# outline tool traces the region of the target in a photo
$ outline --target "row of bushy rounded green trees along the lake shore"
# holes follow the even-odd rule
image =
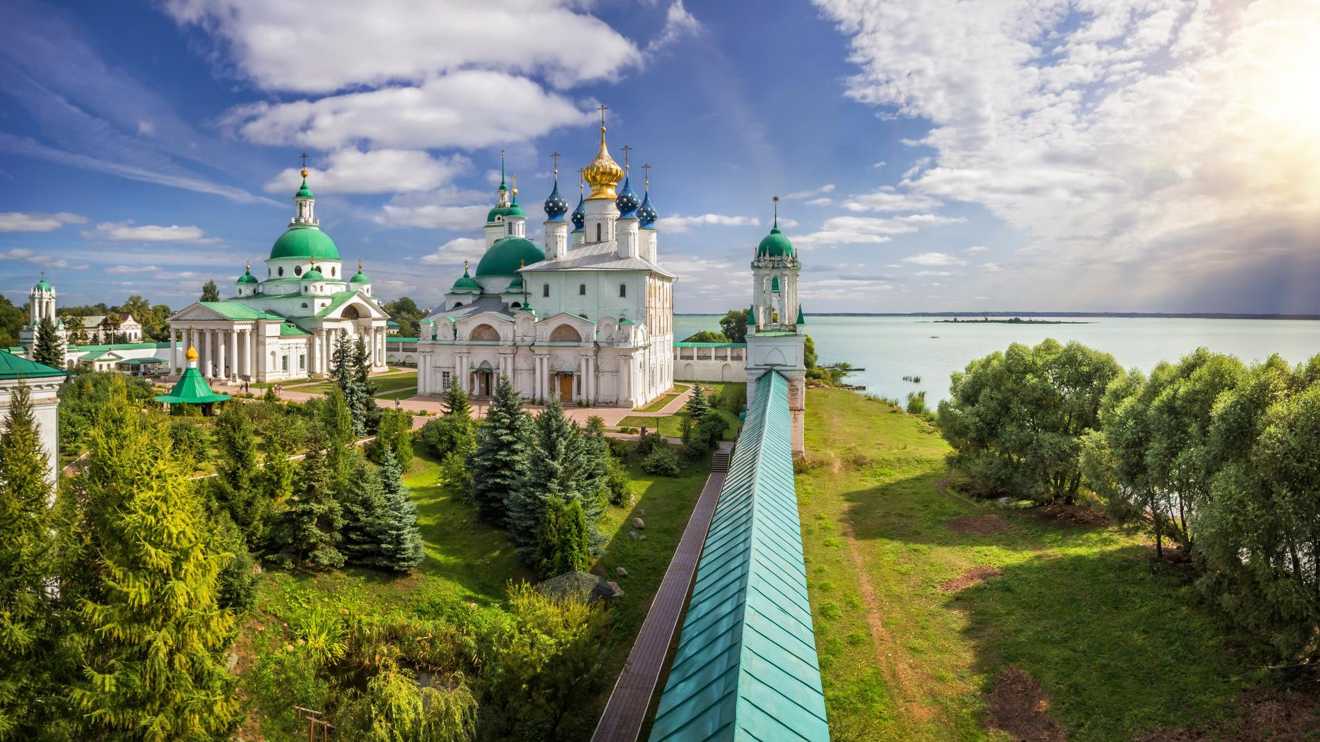
[[[1276,658],[1320,659],[1320,355],[1199,349],[1144,374],[1076,342],[1012,345],[953,374],[936,425],[974,494],[1094,492]]]

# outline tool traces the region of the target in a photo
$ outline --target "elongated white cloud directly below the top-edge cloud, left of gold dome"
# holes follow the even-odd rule
[[[249,141],[272,145],[479,148],[535,139],[560,127],[585,124],[594,115],[527,78],[463,70],[420,86],[319,100],[248,103],[230,110],[222,125]]]

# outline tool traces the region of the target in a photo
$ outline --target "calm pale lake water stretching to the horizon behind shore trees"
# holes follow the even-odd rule
[[[807,333],[821,363],[846,360],[865,368],[847,375],[867,393],[906,399],[924,389],[933,407],[949,396],[949,374],[969,360],[1010,343],[1036,345],[1045,338],[1077,341],[1111,354],[1123,367],[1150,371],[1205,346],[1253,362],[1278,353],[1300,363],[1320,353],[1320,321],[1063,318],[1085,325],[999,325],[935,322],[944,317],[812,317]],[[1041,317],[1044,320],[1044,317]],[[675,317],[675,338],[700,330],[719,331],[719,316]],[[920,383],[903,376],[920,376]]]

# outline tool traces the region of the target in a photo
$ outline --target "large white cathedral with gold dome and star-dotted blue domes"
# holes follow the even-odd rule
[[[669,391],[675,275],[656,256],[649,182],[638,198],[606,149],[603,121],[582,180],[590,193],[569,215],[556,168],[544,247],[527,239],[517,190],[500,180],[475,273],[465,263],[421,323],[418,393],[458,379],[486,396],[502,375],[528,400],[635,407]]]

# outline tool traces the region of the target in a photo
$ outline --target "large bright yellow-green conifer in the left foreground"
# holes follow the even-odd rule
[[[69,689],[78,739],[203,739],[240,713],[224,667],[234,618],[216,603],[223,552],[160,416],[116,384],[88,436],[71,495],[82,557],[63,565],[79,673]]]

